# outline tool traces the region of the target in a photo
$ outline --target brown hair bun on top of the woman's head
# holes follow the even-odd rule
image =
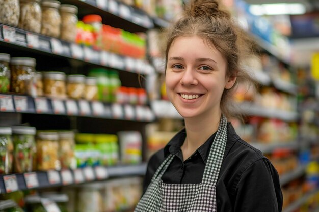
[[[220,8],[219,2],[214,0],[192,0],[185,10],[189,17],[215,17],[230,19],[230,13]]]

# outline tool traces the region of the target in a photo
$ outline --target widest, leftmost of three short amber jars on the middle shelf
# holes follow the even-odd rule
[[[43,93],[48,97],[66,98],[66,75],[64,72],[49,71],[43,73]]]

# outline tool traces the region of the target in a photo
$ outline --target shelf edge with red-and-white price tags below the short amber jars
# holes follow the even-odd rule
[[[147,105],[121,105],[98,101],[49,99],[0,94],[0,112],[67,115],[135,122],[152,122],[155,115]]]

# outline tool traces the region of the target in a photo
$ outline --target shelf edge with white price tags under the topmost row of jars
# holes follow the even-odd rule
[[[107,51],[31,33],[20,28],[0,24],[0,45],[11,45],[41,54],[58,55],[137,74],[150,74],[155,68],[146,60],[121,56]]]

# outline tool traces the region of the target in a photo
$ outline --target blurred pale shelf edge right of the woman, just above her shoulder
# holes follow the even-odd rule
[[[287,122],[294,122],[298,119],[297,112],[263,108],[249,102],[240,103],[238,106],[247,115],[256,115],[267,118],[278,118]]]

